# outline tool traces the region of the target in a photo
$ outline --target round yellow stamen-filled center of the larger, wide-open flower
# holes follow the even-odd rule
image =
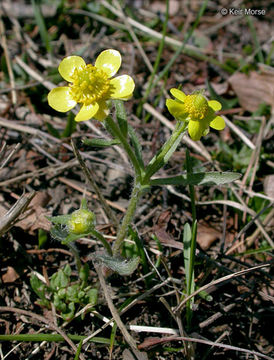
[[[70,93],[73,100],[84,105],[109,97],[111,85],[107,74],[90,64],[74,70]]]

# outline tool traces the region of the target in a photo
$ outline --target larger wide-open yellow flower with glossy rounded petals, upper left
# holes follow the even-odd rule
[[[112,49],[101,52],[94,66],[86,65],[80,56],[64,58],[58,70],[70,84],[51,90],[48,94],[49,105],[57,111],[66,112],[79,103],[81,109],[75,117],[76,121],[91,118],[104,120],[109,114],[106,101],[127,100],[132,96],[135,87],[129,75],[112,79],[121,62],[119,51]]]

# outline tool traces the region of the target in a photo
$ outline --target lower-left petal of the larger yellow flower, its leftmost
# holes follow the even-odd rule
[[[77,104],[70,95],[68,86],[52,89],[48,94],[49,105],[57,111],[66,112],[74,108]]]

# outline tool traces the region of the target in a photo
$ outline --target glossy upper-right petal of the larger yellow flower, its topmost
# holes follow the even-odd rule
[[[107,73],[108,77],[114,76],[121,66],[122,58],[117,50],[102,51],[95,61],[95,67]]]

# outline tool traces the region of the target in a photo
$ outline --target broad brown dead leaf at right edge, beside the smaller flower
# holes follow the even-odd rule
[[[274,72],[263,69],[259,74],[252,71],[249,76],[236,73],[229,83],[239,98],[241,106],[250,112],[256,111],[262,103],[274,103]]]

